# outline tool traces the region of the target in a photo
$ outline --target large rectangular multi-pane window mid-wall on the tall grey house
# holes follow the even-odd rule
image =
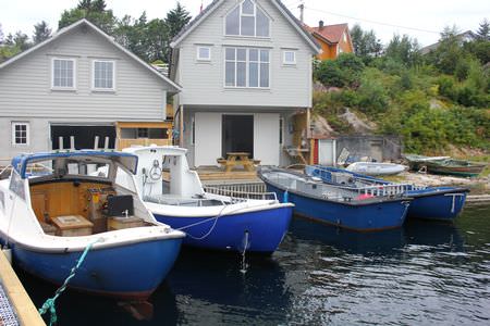
[[[269,50],[225,48],[224,52],[225,87],[269,87]]]

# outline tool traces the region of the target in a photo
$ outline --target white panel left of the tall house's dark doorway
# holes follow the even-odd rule
[[[221,113],[196,112],[196,158],[194,164],[217,165],[221,156]]]

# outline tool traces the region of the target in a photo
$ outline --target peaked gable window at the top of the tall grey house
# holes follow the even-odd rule
[[[269,17],[252,0],[235,7],[225,18],[225,35],[269,37]]]

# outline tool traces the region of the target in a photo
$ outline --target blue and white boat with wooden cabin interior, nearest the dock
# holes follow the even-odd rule
[[[145,301],[166,278],[184,234],[157,222],[136,192],[137,156],[107,151],[23,154],[0,180],[0,238],[14,263],[75,290]],[[106,173],[95,172],[105,167]]]

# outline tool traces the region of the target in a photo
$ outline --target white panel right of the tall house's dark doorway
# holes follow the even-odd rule
[[[279,165],[279,114],[257,113],[254,116],[254,159],[261,165]]]

